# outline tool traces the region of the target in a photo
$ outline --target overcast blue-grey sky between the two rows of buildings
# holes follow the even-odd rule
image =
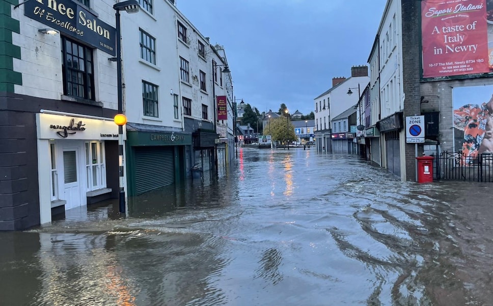
[[[309,114],[332,78],[367,65],[387,0],[176,0],[225,47],[236,100]]]

